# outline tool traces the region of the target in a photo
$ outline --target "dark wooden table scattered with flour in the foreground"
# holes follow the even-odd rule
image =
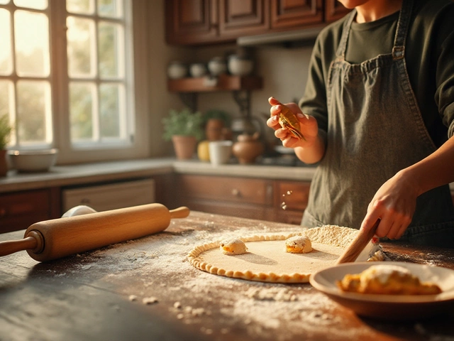
[[[297,225],[192,212],[149,237],[49,263],[0,258],[0,340],[453,340],[454,315],[359,318],[304,284],[207,274],[187,253],[223,237]],[[21,239],[23,232],[0,234]],[[454,269],[454,251],[384,244],[398,261]]]

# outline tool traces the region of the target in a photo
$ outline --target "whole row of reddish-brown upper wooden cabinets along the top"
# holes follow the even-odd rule
[[[323,26],[348,10],[336,0],[163,0],[171,45],[233,43],[241,36]]]

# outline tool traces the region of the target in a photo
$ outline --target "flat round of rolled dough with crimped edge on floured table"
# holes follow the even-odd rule
[[[219,251],[220,242],[211,242],[194,247],[187,259],[194,268],[218,276],[270,283],[307,283],[311,274],[333,266],[357,234],[358,229],[336,225],[303,228],[301,232],[289,234],[260,234],[241,237],[248,247],[245,254],[226,256]],[[296,235],[308,237],[313,251],[286,252],[285,240]]]

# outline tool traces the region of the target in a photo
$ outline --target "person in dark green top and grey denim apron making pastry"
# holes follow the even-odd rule
[[[316,39],[303,97],[305,139],[267,126],[319,163],[301,224],[454,247],[454,2],[340,0],[352,11]],[[304,114],[303,114],[304,113]]]

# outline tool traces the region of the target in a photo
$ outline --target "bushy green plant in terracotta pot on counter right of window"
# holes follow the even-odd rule
[[[194,155],[197,141],[204,137],[203,119],[200,112],[191,112],[188,108],[178,112],[171,109],[168,117],[162,119],[163,138],[172,140],[179,159],[189,159]]]

